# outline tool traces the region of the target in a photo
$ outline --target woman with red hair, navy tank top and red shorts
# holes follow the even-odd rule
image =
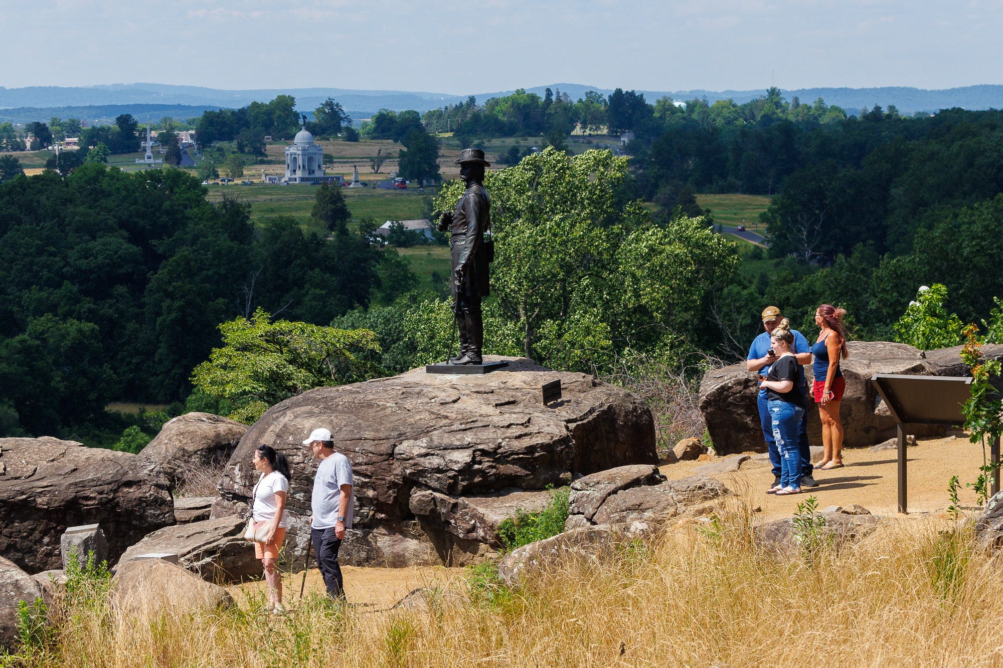
[[[815,344],[813,393],[821,418],[822,457],[816,467],[822,470],[843,465],[843,422],[840,421],[840,401],[847,390],[847,381],[840,360],[849,356],[847,333],[843,328],[845,309],[822,304],[815,310],[815,325],[821,330]]]

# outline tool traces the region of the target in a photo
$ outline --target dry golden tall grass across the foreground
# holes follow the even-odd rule
[[[34,666],[997,666],[999,564],[965,530],[890,521],[839,553],[756,545],[747,506],[516,589],[366,613],[309,598],[286,617],[70,609]],[[293,598],[293,597],[289,597]]]

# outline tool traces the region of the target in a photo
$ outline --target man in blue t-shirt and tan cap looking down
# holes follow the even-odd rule
[[[777,323],[783,318],[780,315],[780,309],[775,306],[767,306],[762,312],[762,327],[766,331],[755,337],[752,341],[752,345],[749,346],[748,358],[745,365],[748,367],[749,371],[755,371],[766,375],[769,373],[769,366],[779,359],[773,354],[773,349],[770,343],[770,334],[773,333],[773,329],[776,328]],[[804,369],[802,366],[804,364],[811,363],[811,346],[808,345],[807,339],[804,335],[798,332],[796,329],[790,330],[790,333],[794,337],[794,345],[791,348],[791,352],[794,353],[794,357],[797,359],[797,381],[795,383],[796,387],[804,391]],[[766,440],[766,449],[769,452],[769,463],[773,466],[773,484],[775,486],[780,482],[780,452],[776,449],[776,441],[773,440],[773,425],[772,420],[769,415],[768,399],[766,398],[766,390],[759,388],[756,394],[756,405],[759,408],[759,426],[762,428],[762,436]],[[801,457],[801,486],[802,487],[814,487],[817,486],[817,482],[811,477],[811,450],[808,448],[808,411],[804,411],[804,416],[801,418],[801,424],[797,431],[797,453]]]

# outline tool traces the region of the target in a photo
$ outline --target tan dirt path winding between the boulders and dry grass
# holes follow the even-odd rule
[[[773,480],[769,462],[762,458],[745,461],[741,470],[735,473],[715,475],[737,493],[744,495],[753,507],[761,512],[757,518],[766,521],[790,517],[809,495],[818,499],[818,507],[847,506],[860,504],[876,515],[897,515],[898,468],[896,451],[872,452],[868,448],[845,450],[843,468],[817,471],[815,479],[819,486],[807,493],[790,496],[774,496],[765,493]],[[718,458],[720,459],[720,458]],[[661,471],[669,479],[692,475],[695,468],[707,461],[680,461],[661,466]],[[945,509],[948,504],[947,484],[952,475],[957,475],[964,485],[975,479],[978,467],[982,465],[982,448],[969,442],[965,437],[948,437],[921,440],[909,448],[909,510],[912,517],[921,513]],[[975,492],[962,486],[960,500],[964,506],[975,504]],[[901,516],[899,516],[901,517]],[[463,578],[463,569],[445,567],[413,567],[405,569],[342,567],[345,578],[345,593],[348,600],[363,609],[374,612],[392,607],[401,598],[418,587],[455,587]],[[287,602],[299,598],[302,573],[284,578]],[[248,596],[259,595],[263,582],[248,583],[231,588],[242,603]],[[306,591],[323,593],[324,582],[316,569],[307,574]]]

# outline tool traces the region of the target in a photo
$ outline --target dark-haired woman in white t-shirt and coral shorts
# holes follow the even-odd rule
[[[289,460],[282,452],[268,445],[259,445],[254,452],[254,467],[261,471],[254,485],[252,518],[255,528],[269,528],[264,543],[255,543],[255,557],[261,560],[268,583],[268,609],[281,614],[282,576],[279,574],[279,548],[286,538],[286,492],[289,490]]]

